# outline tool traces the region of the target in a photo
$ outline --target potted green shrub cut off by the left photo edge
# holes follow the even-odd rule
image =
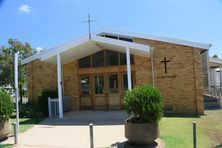
[[[0,139],[10,133],[10,116],[13,112],[13,102],[10,96],[0,89]]]

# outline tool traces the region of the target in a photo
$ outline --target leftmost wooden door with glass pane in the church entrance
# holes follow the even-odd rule
[[[92,109],[92,80],[90,75],[80,76],[80,109]]]

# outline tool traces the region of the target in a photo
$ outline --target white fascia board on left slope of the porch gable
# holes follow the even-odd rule
[[[57,46],[55,48],[51,48],[48,50],[48,52],[46,52],[45,54],[43,54],[41,56],[41,60],[44,61],[50,57],[57,55],[58,53],[62,53],[68,49],[74,48],[74,47],[84,44],[88,41],[89,41],[88,36],[84,36],[82,38],[79,38],[78,40],[74,40],[69,43],[62,44],[62,45]]]

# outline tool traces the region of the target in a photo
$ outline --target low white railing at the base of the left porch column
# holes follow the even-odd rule
[[[62,104],[63,104],[63,112],[67,112],[70,110],[69,103],[70,98],[69,97],[63,97],[62,98]],[[59,115],[59,99],[50,97],[48,98],[48,110],[49,110],[49,118],[55,118]]]

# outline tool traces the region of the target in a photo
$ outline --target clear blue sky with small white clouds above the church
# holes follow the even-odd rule
[[[49,49],[102,28],[212,44],[222,58],[222,0],[0,0],[0,46],[9,38]]]

